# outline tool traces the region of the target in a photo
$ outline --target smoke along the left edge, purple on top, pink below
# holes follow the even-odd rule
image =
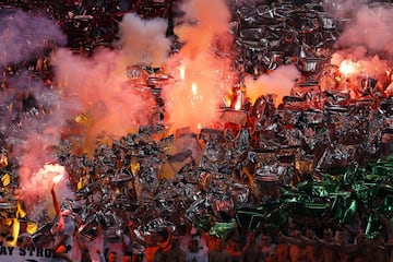
[[[59,96],[27,71],[25,62],[45,55],[46,47],[66,45],[66,39],[59,26],[41,14],[0,10],[0,66],[15,66],[11,76],[2,76],[8,86],[0,97],[4,105],[0,128],[12,148],[10,157],[21,165],[16,193],[32,219],[39,219],[51,205],[52,177],[39,170],[55,159],[51,147],[60,141],[61,121],[43,114],[56,109]],[[70,193],[63,186],[60,199]]]

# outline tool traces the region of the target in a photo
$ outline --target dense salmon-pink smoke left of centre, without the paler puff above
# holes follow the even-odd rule
[[[88,112],[86,141],[93,143],[100,133],[123,135],[151,123],[152,94],[128,83],[120,52],[102,50],[85,59],[60,49],[56,56],[56,78],[63,97],[59,110],[71,118]]]

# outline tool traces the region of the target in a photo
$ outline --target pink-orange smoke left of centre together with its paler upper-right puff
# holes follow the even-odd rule
[[[93,147],[98,134],[118,138],[153,121],[156,104],[151,90],[144,80],[131,82],[127,69],[164,64],[170,49],[167,23],[126,14],[119,27],[119,49],[96,49],[90,58],[59,49],[55,56],[62,97],[59,110],[64,116],[82,116],[76,120],[87,129],[84,148]]]

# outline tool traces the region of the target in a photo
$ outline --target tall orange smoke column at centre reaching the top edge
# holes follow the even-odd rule
[[[184,43],[167,68],[177,79],[163,91],[170,131],[188,127],[196,132],[212,127],[233,82],[229,69],[231,36],[225,1],[193,0],[181,5],[186,15],[175,33]]]

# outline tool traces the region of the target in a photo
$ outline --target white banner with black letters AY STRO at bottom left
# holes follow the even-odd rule
[[[1,262],[50,262],[53,250],[44,248],[1,247]]]

